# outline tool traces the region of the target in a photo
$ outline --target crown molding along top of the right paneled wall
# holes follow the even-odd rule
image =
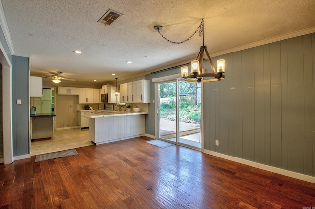
[[[298,37],[298,36],[302,36],[302,35],[306,35],[306,34],[310,34],[310,33],[314,33],[314,32],[315,32],[315,27],[310,27],[310,28],[307,28],[307,29],[295,31],[295,32],[292,32],[292,33],[276,36],[276,37],[273,37],[273,38],[269,38],[269,39],[265,39],[265,40],[261,40],[261,41],[257,41],[257,42],[253,42],[253,43],[250,43],[250,44],[246,44],[246,45],[243,45],[243,46],[231,48],[231,49],[228,49],[228,50],[223,50],[221,52],[215,52],[215,53],[210,54],[210,56],[211,57],[216,57],[216,56],[220,56],[220,55],[223,55],[223,54],[228,54],[228,53],[232,53],[232,52],[238,52],[238,51],[241,51],[241,50],[246,50],[246,49],[250,49],[250,48],[253,48],[253,47],[258,47],[258,46],[261,46],[261,45],[264,45],[264,44],[270,44],[270,43],[273,43],[273,42],[276,42],[276,41],[282,41],[282,40],[285,40],[285,39],[294,38],[294,37]]]

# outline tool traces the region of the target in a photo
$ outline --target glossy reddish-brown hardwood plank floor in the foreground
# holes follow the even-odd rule
[[[0,165],[1,208],[302,208],[315,184],[138,137]]]

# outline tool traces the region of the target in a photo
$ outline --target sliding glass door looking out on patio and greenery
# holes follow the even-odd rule
[[[200,84],[171,81],[158,84],[159,138],[201,148]]]

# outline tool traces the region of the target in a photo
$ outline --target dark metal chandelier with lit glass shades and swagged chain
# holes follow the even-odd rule
[[[217,70],[216,70],[212,61],[211,61],[209,52],[207,50],[207,46],[204,45],[203,19],[201,20],[201,23],[200,23],[199,27],[195,30],[195,32],[188,39],[186,39],[184,41],[180,41],[180,42],[170,41],[164,35],[162,35],[160,32],[160,30],[163,29],[162,26],[154,26],[154,29],[158,30],[158,33],[165,40],[167,40],[168,42],[173,43],[173,44],[181,44],[183,42],[189,41],[192,38],[192,36],[194,36],[194,34],[197,33],[199,30],[199,36],[202,36],[202,46],[200,47],[200,51],[198,53],[196,60],[193,60],[191,62],[190,74],[188,72],[187,66],[183,66],[181,68],[181,76],[185,81],[188,81],[188,82],[213,82],[213,81],[220,81],[220,80],[223,80],[225,78],[225,75],[224,75],[224,73],[225,73],[225,60],[220,59],[217,61]],[[206,52],[206,55],[208,57],[212,73],[206,73],[205,68],[203,67],[204,52]]]

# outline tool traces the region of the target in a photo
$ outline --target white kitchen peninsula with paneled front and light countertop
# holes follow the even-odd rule
[[[145,133],[145,114],[148,112],[100,111],[89,118],[89,137],[95,144],[104,144]]]

